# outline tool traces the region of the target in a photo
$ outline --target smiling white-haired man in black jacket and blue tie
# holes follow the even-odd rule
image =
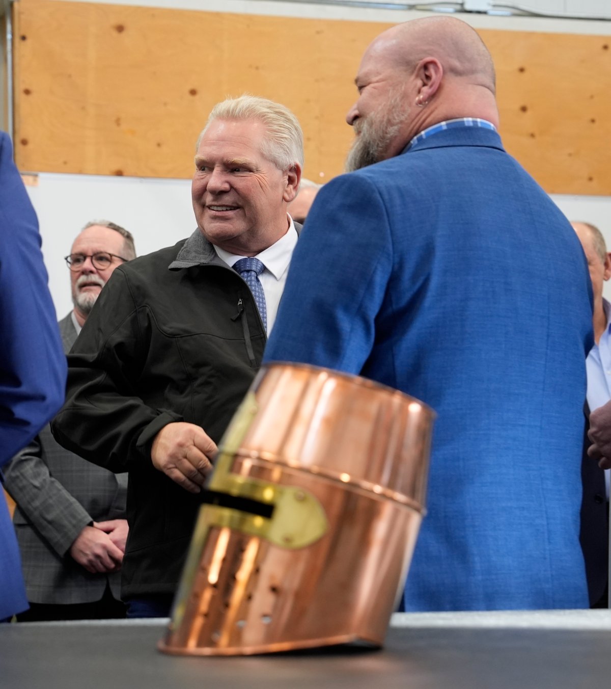
[[[56,438],[128,471],[128,617],[165,617],[211,459],[263,357],[297,230],[303,134],[283,105],[218,103],[197,141],[197,229],[116,269],[68,357]]]

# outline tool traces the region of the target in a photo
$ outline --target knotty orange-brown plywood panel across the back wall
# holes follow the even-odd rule
[[[23,170],[191,176],[208,112],[243,92],[288,105],[305,175],[339,174],[365,46],[388,25],[49,0],[15,13]],[[608,37],[481,30],[509,152],[557,194],[611,194]]]

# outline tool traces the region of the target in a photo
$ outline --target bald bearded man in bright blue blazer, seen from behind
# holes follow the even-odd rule
[[[469,25],[394,26],[356,87],[353,172],[314,201],[265,360],[358,373],[438,412],[402,609],[586,608],[579,240],[504,151]]]

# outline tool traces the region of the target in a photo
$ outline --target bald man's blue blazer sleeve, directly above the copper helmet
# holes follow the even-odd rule
[[[299,236],[264,362],[360,373],[391,274],[392,240],[378,190],[361,177],[334,178]]]

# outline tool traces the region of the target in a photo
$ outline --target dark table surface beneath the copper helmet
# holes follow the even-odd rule
[[[0,625],[2,689],[601,689],[611,610],[393,615],[385,647],[177,657],[167,620]]]

